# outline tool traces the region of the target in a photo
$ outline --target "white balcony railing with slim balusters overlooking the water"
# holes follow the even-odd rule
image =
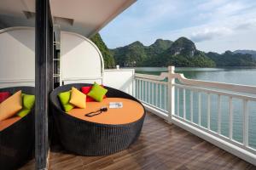
[[[135,74],[137,99],[166,121],[256,165],[256,87],[187,79],[174,70]]]

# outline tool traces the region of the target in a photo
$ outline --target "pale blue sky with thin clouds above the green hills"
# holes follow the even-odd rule
[[[256,0],[137,0],[102,31],[108,48],[188,37],[199,50],[256,50]]]

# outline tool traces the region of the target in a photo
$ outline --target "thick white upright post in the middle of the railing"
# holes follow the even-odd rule
[[[175,111],[175,89],[174,89],[174,82],[175,78],[172,77],[172,74],[174,74],[175,67],[174,66],[168,66],[168,118],[169,122],[172,122],[172,115],[174,115]]]

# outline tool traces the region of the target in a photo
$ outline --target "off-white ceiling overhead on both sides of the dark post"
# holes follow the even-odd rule
[[[50,0],[56,25],[85,37],[94,35],[136,0]],[[1,0],[0,26],[33,26],[24,11],[35,12],[35,0]]]

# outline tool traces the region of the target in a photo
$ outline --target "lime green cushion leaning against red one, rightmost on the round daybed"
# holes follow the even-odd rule
[[[104,95],[107,94],[107,92],[108,90],[106,88],[102,88],[102,86],[94,82],[90,92],[87,95],[96,101],[102,101]]]

